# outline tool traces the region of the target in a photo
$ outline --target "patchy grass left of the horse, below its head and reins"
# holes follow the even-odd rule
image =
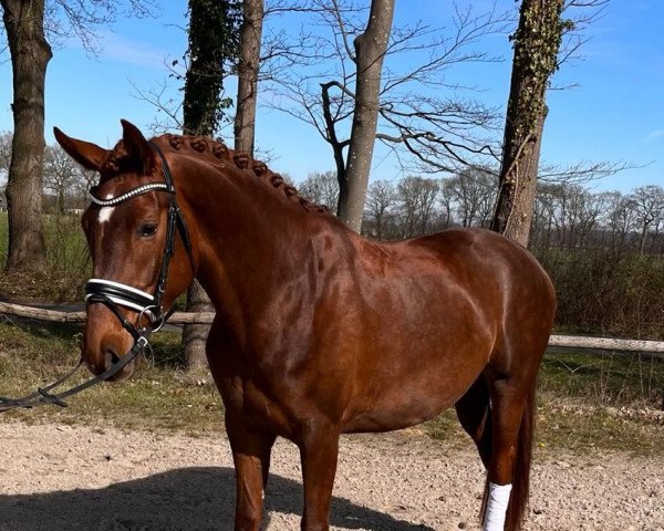
[[[81,331],[73,326],[0,324],[0,395],[34,391],[73,367],[79,357]],[[2,419],[28,423],[58,421],[113,424],[125,429],[188,434],[222,429],[222,408],[210,378],[191,379],[183,371],[179,334],[160,332],[153,353],[143,360],[132,379],[100,384],[68,402],[70,407],[38,407],[2,414]],[[90,377],[82,369],[74,385]]]

